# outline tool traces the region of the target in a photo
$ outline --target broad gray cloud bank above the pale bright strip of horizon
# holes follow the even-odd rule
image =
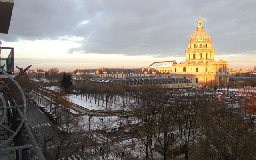
[[[70,53],[184,56],[200,7],[216,54],[240,54],[255,50],[254,6],[254,0],[15,1],[9,34],[0,36],[6,41],[84,37]]]

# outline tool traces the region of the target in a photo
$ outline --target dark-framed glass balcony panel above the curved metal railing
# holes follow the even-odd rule
[[[3,65],[8,74],[14,74],[14,48],[0,47],[0,66]]]

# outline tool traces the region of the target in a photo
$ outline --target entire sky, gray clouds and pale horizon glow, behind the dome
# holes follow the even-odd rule
[[[3,47],[14,65],[60,70],[142,68],[185,61],[199,10],[230,68],[256,66],[255,0],[15,0]]]

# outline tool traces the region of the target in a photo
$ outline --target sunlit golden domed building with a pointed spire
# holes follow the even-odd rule
[[[214,60],[214,46],[212,46],[210,35],[204,31],[201,12],[199,12],[196,31],[190,36],[185,52],[185,62],[177,64],[174,61],[175,63],[171,66],[164,68],[164,72],[160,72],[163,70],[160,65],[162,62],[156,63],[159,65],[154,63],[150,68],[154,68],[160,74],[171,74],[173,78],[186,78],[192,82],[193,86],[198,86],[201,82],[201,84],[212,82],[224,85],[228,83],[228,64],[224,60]]]

